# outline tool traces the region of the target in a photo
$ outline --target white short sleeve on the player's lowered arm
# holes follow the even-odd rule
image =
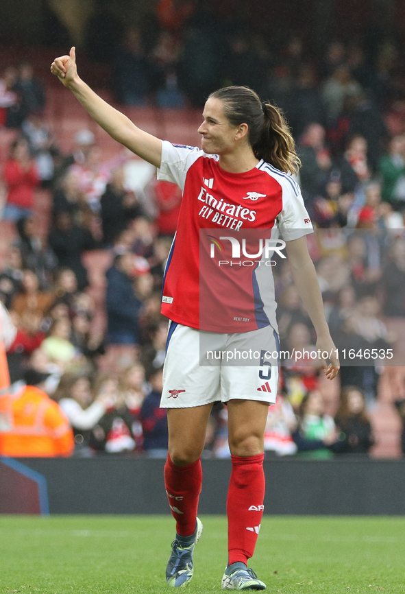
[[[278,228],[284,241],[293,241],[313,233],[310,216],[297,182],[290,176],[279,180],[282,185],[282,211],[278,215]]]

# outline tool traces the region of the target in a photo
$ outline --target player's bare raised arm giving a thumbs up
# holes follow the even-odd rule
[[[101,99],[79,78],[74,47],[71,48],[69,56],[61,56],[52,62],[51,73],[72,91],[84,109],[114,140],[155,167],[160,167],[162,141],[137,128],[129,118]]]

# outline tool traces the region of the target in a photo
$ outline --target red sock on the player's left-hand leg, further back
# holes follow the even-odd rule
[[[164,464],[164,487],[171,513],[176,521],[176,532],[180,536],[191,536],[195,532],[201,484],[200,459],[186,466],[175,466],[170,455],[167,455]]]

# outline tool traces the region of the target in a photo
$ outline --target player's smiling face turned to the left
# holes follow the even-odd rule
[[[220,99],[210,97],[204,106],[203,123],[198,129],[202,136],[201,147],[208,154],[234,152],[238,142],[247,140],[247,125],[230,126]]]

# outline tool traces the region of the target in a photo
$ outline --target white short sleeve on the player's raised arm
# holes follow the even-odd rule
[[[173,145],[169,141],[162,141],[162,160],[158,169],[158,180],[177,184],[183,191],[188,169],[202,156],[204,151],[197,147]]]

